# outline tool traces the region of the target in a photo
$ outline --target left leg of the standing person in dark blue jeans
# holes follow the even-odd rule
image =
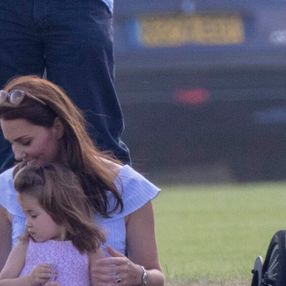
[[[43,73],[43,50],[33,9],[31,0],[0,1],[0,89],[16,75]],[[0,173],[13,163],[11,146],[0,131]]]

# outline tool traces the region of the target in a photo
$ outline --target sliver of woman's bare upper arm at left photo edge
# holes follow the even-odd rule
[[[0,206],[0,271],[3,269],[11,251],[11,221],[8,212]]]

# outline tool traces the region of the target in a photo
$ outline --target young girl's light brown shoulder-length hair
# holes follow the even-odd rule
[[[102,230],[95,225],[93,208],[70,169],[56,164],[25,166],[15,174],[14,187],[20,194],[35,197],[54,222],[67,229],[67,239],[80,252],[96,251],[106,242]],[[28,238],[26,230],[21,239]]]

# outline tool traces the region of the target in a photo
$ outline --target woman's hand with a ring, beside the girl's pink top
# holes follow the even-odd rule
[[[120,283],[120,286],[142,284],[143,272],[140,265],[133,263],[109,245],[107,252],[111,257],[98,259],[91,269],[91,275],[97,281],[97,286],[114,286],[114,283]]]

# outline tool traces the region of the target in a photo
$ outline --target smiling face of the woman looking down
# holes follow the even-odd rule
[[[32,166],[60,161],[62,133],[57,124],[46,128],[26,119],[0,119],[0,123],[5,139],[12,144],[17,161],[23,160]]]

